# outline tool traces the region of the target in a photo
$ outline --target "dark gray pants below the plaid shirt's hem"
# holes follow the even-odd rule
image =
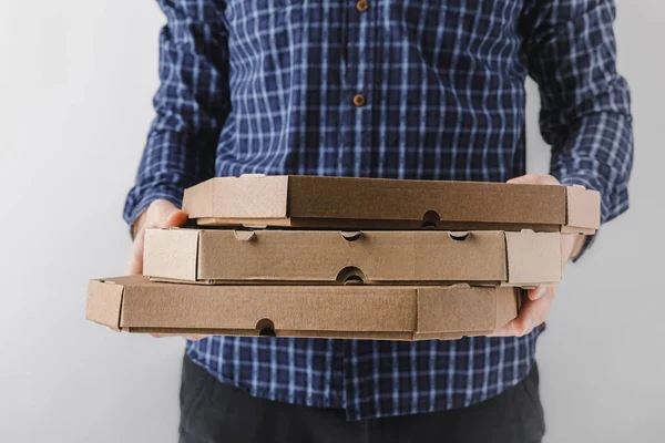
[[[219,383],[185,357],[181,443],[538,443],[545,425],[538,369],[501,395],[467,409],[346,421],[335,409],[256,399]]]

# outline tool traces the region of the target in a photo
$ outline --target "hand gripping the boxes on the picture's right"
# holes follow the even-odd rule
[[[523,175],[513,178],[508,183],[530,184],[530,185],[559,185],[559,181],[551,175]],[[562,235],[561,236],[561,256],[564,265],[572,258],[575,258],[582,250],[584,236],[582,235]],[[516,319],[512,320],[503,328],[497,330],[492,337],[523,337],[540,324],[542,324],[550,313],[557,287],[541,286],[530,289],[526,300],[522,303],[522,309]]]

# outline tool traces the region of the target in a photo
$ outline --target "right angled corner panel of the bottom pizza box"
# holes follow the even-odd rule
[[[473,332],[494,328],[495,288],[432,287],[418,289],[418,333]]]

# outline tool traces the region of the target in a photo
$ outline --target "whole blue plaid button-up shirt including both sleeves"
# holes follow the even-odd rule
[[[526,75],[540,85],[552,174],[600,190],[603,222],[627,208],[630,95],[610,0],[160,3],[162,84],[129,223],[213,175],[507,181],[525,168]],[[188,342],[187,354],[252,395],[342,408],[354,420],[497,395],[530,371],[539,332],[212,337]]]

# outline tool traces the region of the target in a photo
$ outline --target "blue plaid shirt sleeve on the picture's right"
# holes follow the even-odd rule
[[[602,222],[628,208],[631,96],[616,72],[612,0],[533,0],[523,17],[531,76],[551,173],[601,193]]]

